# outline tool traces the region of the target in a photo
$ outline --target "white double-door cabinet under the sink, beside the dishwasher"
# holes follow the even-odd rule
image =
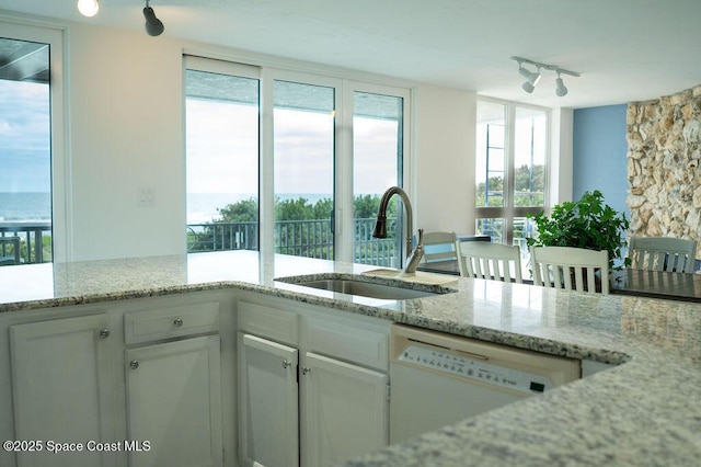
[[[330,466],[386,446],[389,324],[260,300],[238,305],[241,463]]]

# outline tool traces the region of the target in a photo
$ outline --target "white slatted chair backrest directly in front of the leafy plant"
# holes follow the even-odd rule
[[[609,252],[572,247],[531,247],[533,282],[545,287],[609,293]],[[598,281],[597,281],[598,272]],[[600,291],[597,285],[600,283]]]

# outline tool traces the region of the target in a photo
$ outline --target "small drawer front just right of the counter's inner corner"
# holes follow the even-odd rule
[[[240,330],[288,345],[299,342],[297,314],[243,300],[238,310]]]

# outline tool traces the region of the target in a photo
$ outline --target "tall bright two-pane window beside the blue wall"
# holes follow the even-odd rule
[[[478,101],[475,231],[519,246],[524,264],[532,231],[527,216],[545,206],[548,126],[545,110]]]

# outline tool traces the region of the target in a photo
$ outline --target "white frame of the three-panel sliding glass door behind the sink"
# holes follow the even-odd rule
[[[308,71],[281,69],[266,65],[253,65],[227,57],[209,57],[195,52],[183,53],[183,76],[186,69],[235,75],[255,78],[260,82],[260,122],[258,122],[258,251],[275,252],[275,172],[274,172],[274,83],[291,81],[302,84],[321,86],[334,89],[334,259],[353,261],[354,241],[354,193],[353,193],[353,95],[355,91],[386,94],[403,100],[402,115],[402,157],[400,186],[411,192],[411,98],[410,88],[387,86],[334,77],[315,75]],[[249,75],[245,75],[245,70]],[[184,82],[184,78],[183,78]],[[183,90],[183,105],[185,102]],[[186,118],[185,118],[186,119]],[[185,134],[185,132],[183,132]],[[186,155],[185,155],[186,157]],[[187,176],[187,174],[185,174]],[[409,185],[409,186],[407,186]],[[389,186],[388,186],[389,189]],[[401,236],[404,237],[403,234]],[[402,242],[403,244],[403,242]],[[402,252],[402,260],[406,252]]]

